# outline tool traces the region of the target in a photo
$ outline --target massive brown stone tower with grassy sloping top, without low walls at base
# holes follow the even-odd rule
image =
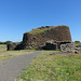
[[[23,37],[23,48],[38,49],[40,45],[43,45],[48,40],[71,42],[69,27],[65,25],[45,26],[33,29],[33,31],[26,32]],[[60,42],[58,42],[59,46]]]

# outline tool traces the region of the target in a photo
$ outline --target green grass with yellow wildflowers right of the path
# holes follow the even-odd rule
[[[17,81],[81,81],[81,54],[43,51]]]

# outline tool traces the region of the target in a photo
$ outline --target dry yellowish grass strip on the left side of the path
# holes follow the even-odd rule
[[[28,54],[33,52],[35,50],[21,50],[21,51],[6,51],[5,44],[0,44],[0,62],[8,59],[10,57]]]

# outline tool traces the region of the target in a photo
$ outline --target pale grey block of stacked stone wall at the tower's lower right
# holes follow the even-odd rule
[[[60,51],[65,53],[72,53],[75,52],[75,44],[73,43],[62,44]]]

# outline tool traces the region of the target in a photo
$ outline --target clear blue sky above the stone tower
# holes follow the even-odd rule
[[[81,0],[0,0],[0,41],[18,42],[26,31],[57,25],[81,41]]]

